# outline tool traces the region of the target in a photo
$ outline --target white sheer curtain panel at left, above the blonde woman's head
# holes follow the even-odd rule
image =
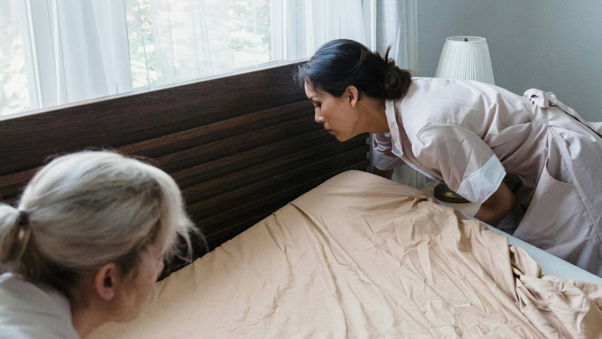
[[[11,0],[31,109],[132,89],[124,0]]]

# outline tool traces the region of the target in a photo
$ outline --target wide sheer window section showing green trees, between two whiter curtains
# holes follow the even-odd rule
[[[151,0],[158,83],[272,61],[272,13],[270,0]]]

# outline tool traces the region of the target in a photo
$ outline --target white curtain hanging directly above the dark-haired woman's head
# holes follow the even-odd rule
[[[324,42],[352,39],[402,68],[417,67],[417,0],[284,0],[287,59],[311,57]]]

